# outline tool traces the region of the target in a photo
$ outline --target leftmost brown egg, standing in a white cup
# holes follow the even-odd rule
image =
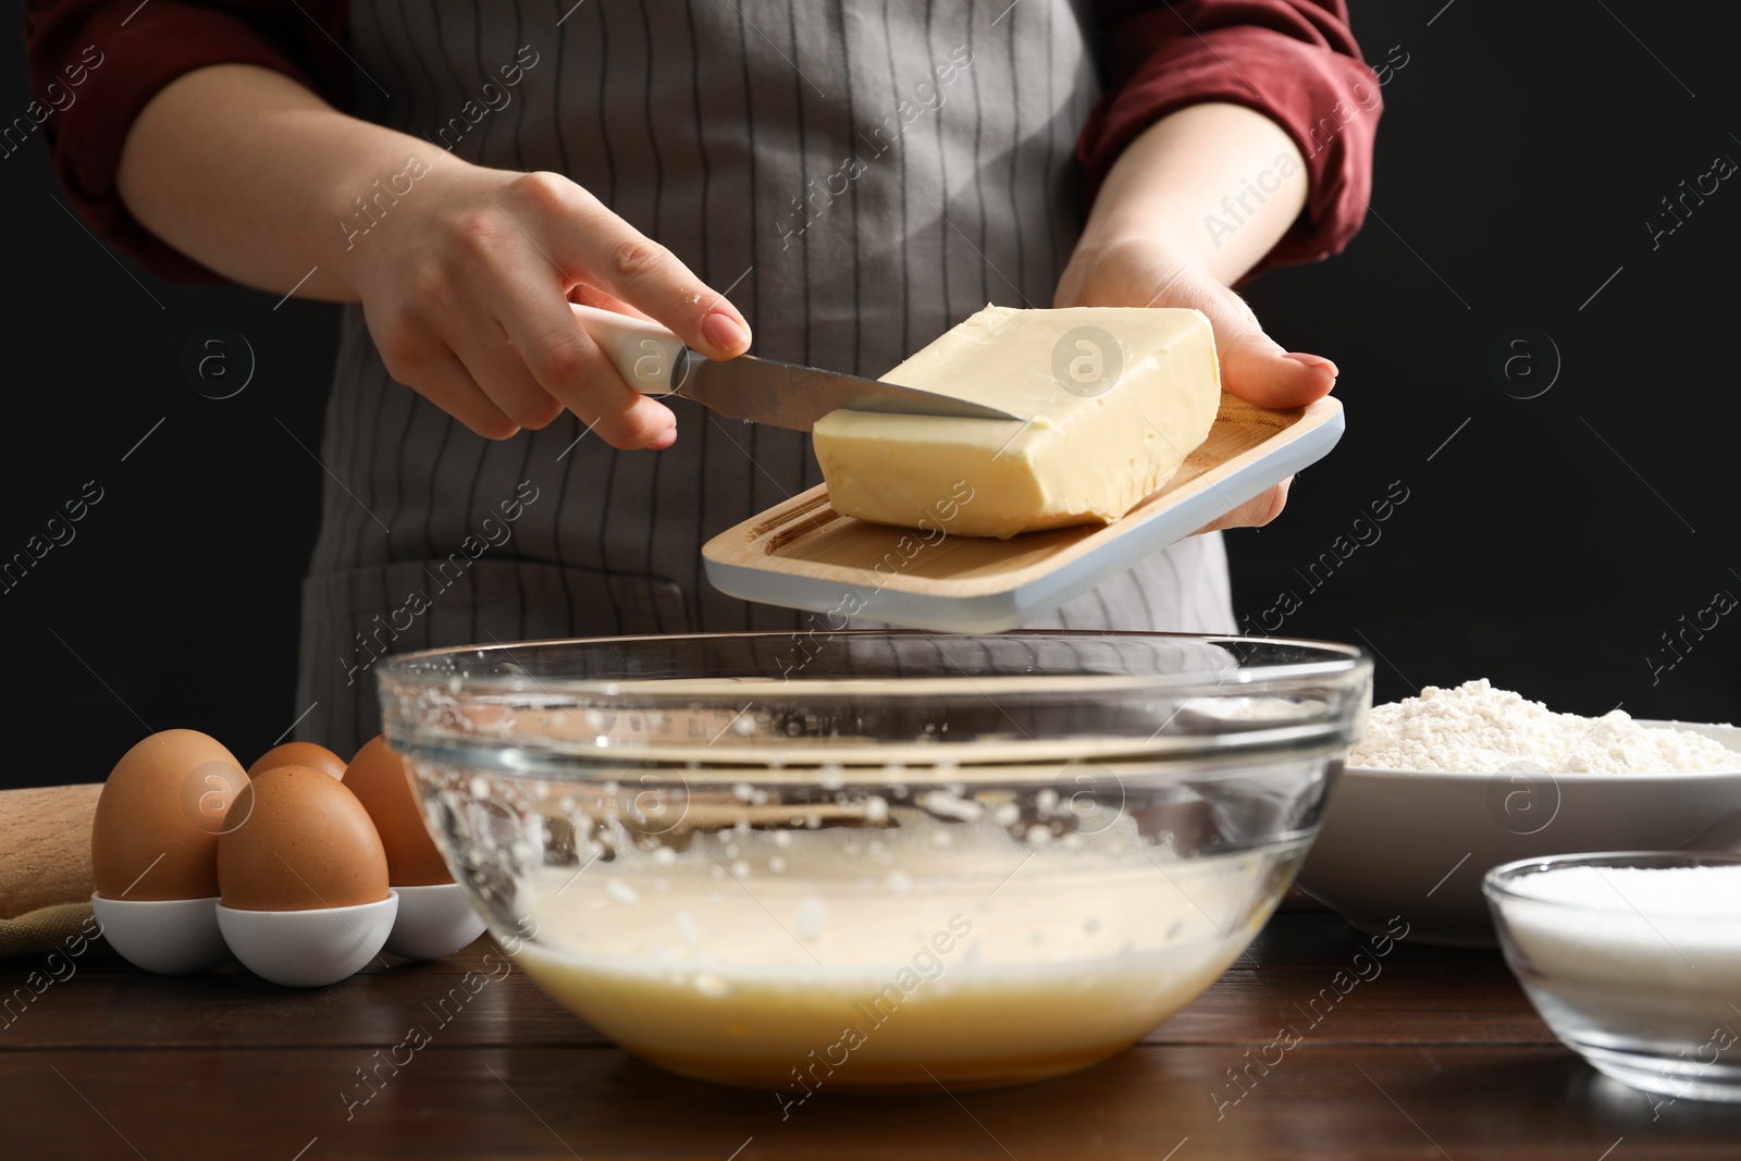
[[[127,750],[103,783],[91,823],[97,895],[218,895],[218,834],[244,787],[235,755],[197,729],[165,729]]]

